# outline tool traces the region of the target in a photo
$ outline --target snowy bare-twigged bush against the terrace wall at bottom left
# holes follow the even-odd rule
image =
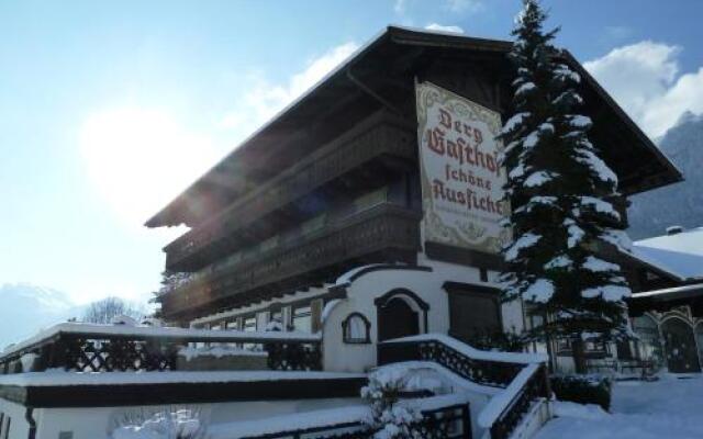
[[[202,439],[205,434],[200,413],[186,408],[130,414],[116,424],[112,439]]]

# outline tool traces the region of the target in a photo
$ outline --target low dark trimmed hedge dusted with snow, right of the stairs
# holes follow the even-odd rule
[[[551,391],[559,401],[598,404],[604,410],[611,406],[611,381],[601,375],[554,375]]]

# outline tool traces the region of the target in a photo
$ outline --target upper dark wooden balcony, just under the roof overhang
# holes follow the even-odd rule
[[[199,270],[235,248],[265,238],[270,229],[304,221],[291,204],[311,192],[328,190],[334,184],[353,192],[391,175],[402,164],[414,162],[412,128],[389,117],[384,113],[369,117],[169,244],[164,249],[166,268]]]

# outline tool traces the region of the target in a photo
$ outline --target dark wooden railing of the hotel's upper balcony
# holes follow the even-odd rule
[[[371,117],[356,135],[347,133],[305,160],[253,190],[221,214],[169,244],[167,268],[190,266],[199,255],[233,240],[233,233],[282,207],[367,161],[382,156],[404,160],[415,157],[412,131]],[[370,127],[368,125],[371,125]],[[231,249],[230,249],[231,251]]]

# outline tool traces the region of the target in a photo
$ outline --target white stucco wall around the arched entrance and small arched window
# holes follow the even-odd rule
[[[324,370],[365,372],[376,365],[378,316],[375,300],[391,290],[410,290],[429,305],[427,328],[423,327],[423,317],[420,313],[421,333],[447,334],[449,301],[447,292],[442,288],[445,282],[495,286],[492,282],[495,273],[490,273],[489,281],[482,282],[478,268],[427,260],[422,255],[419,264],[431,267],[432,271],[383,269],[362,274],[347,285],[347,297],[332,308],[323,324]],[[370,344],[343,342],[342,322],[353,312],[364,314],[371,323]],[[502,314],[505,330],[513,328],[522,330],[523,311],[520,303],[504,305]]]

